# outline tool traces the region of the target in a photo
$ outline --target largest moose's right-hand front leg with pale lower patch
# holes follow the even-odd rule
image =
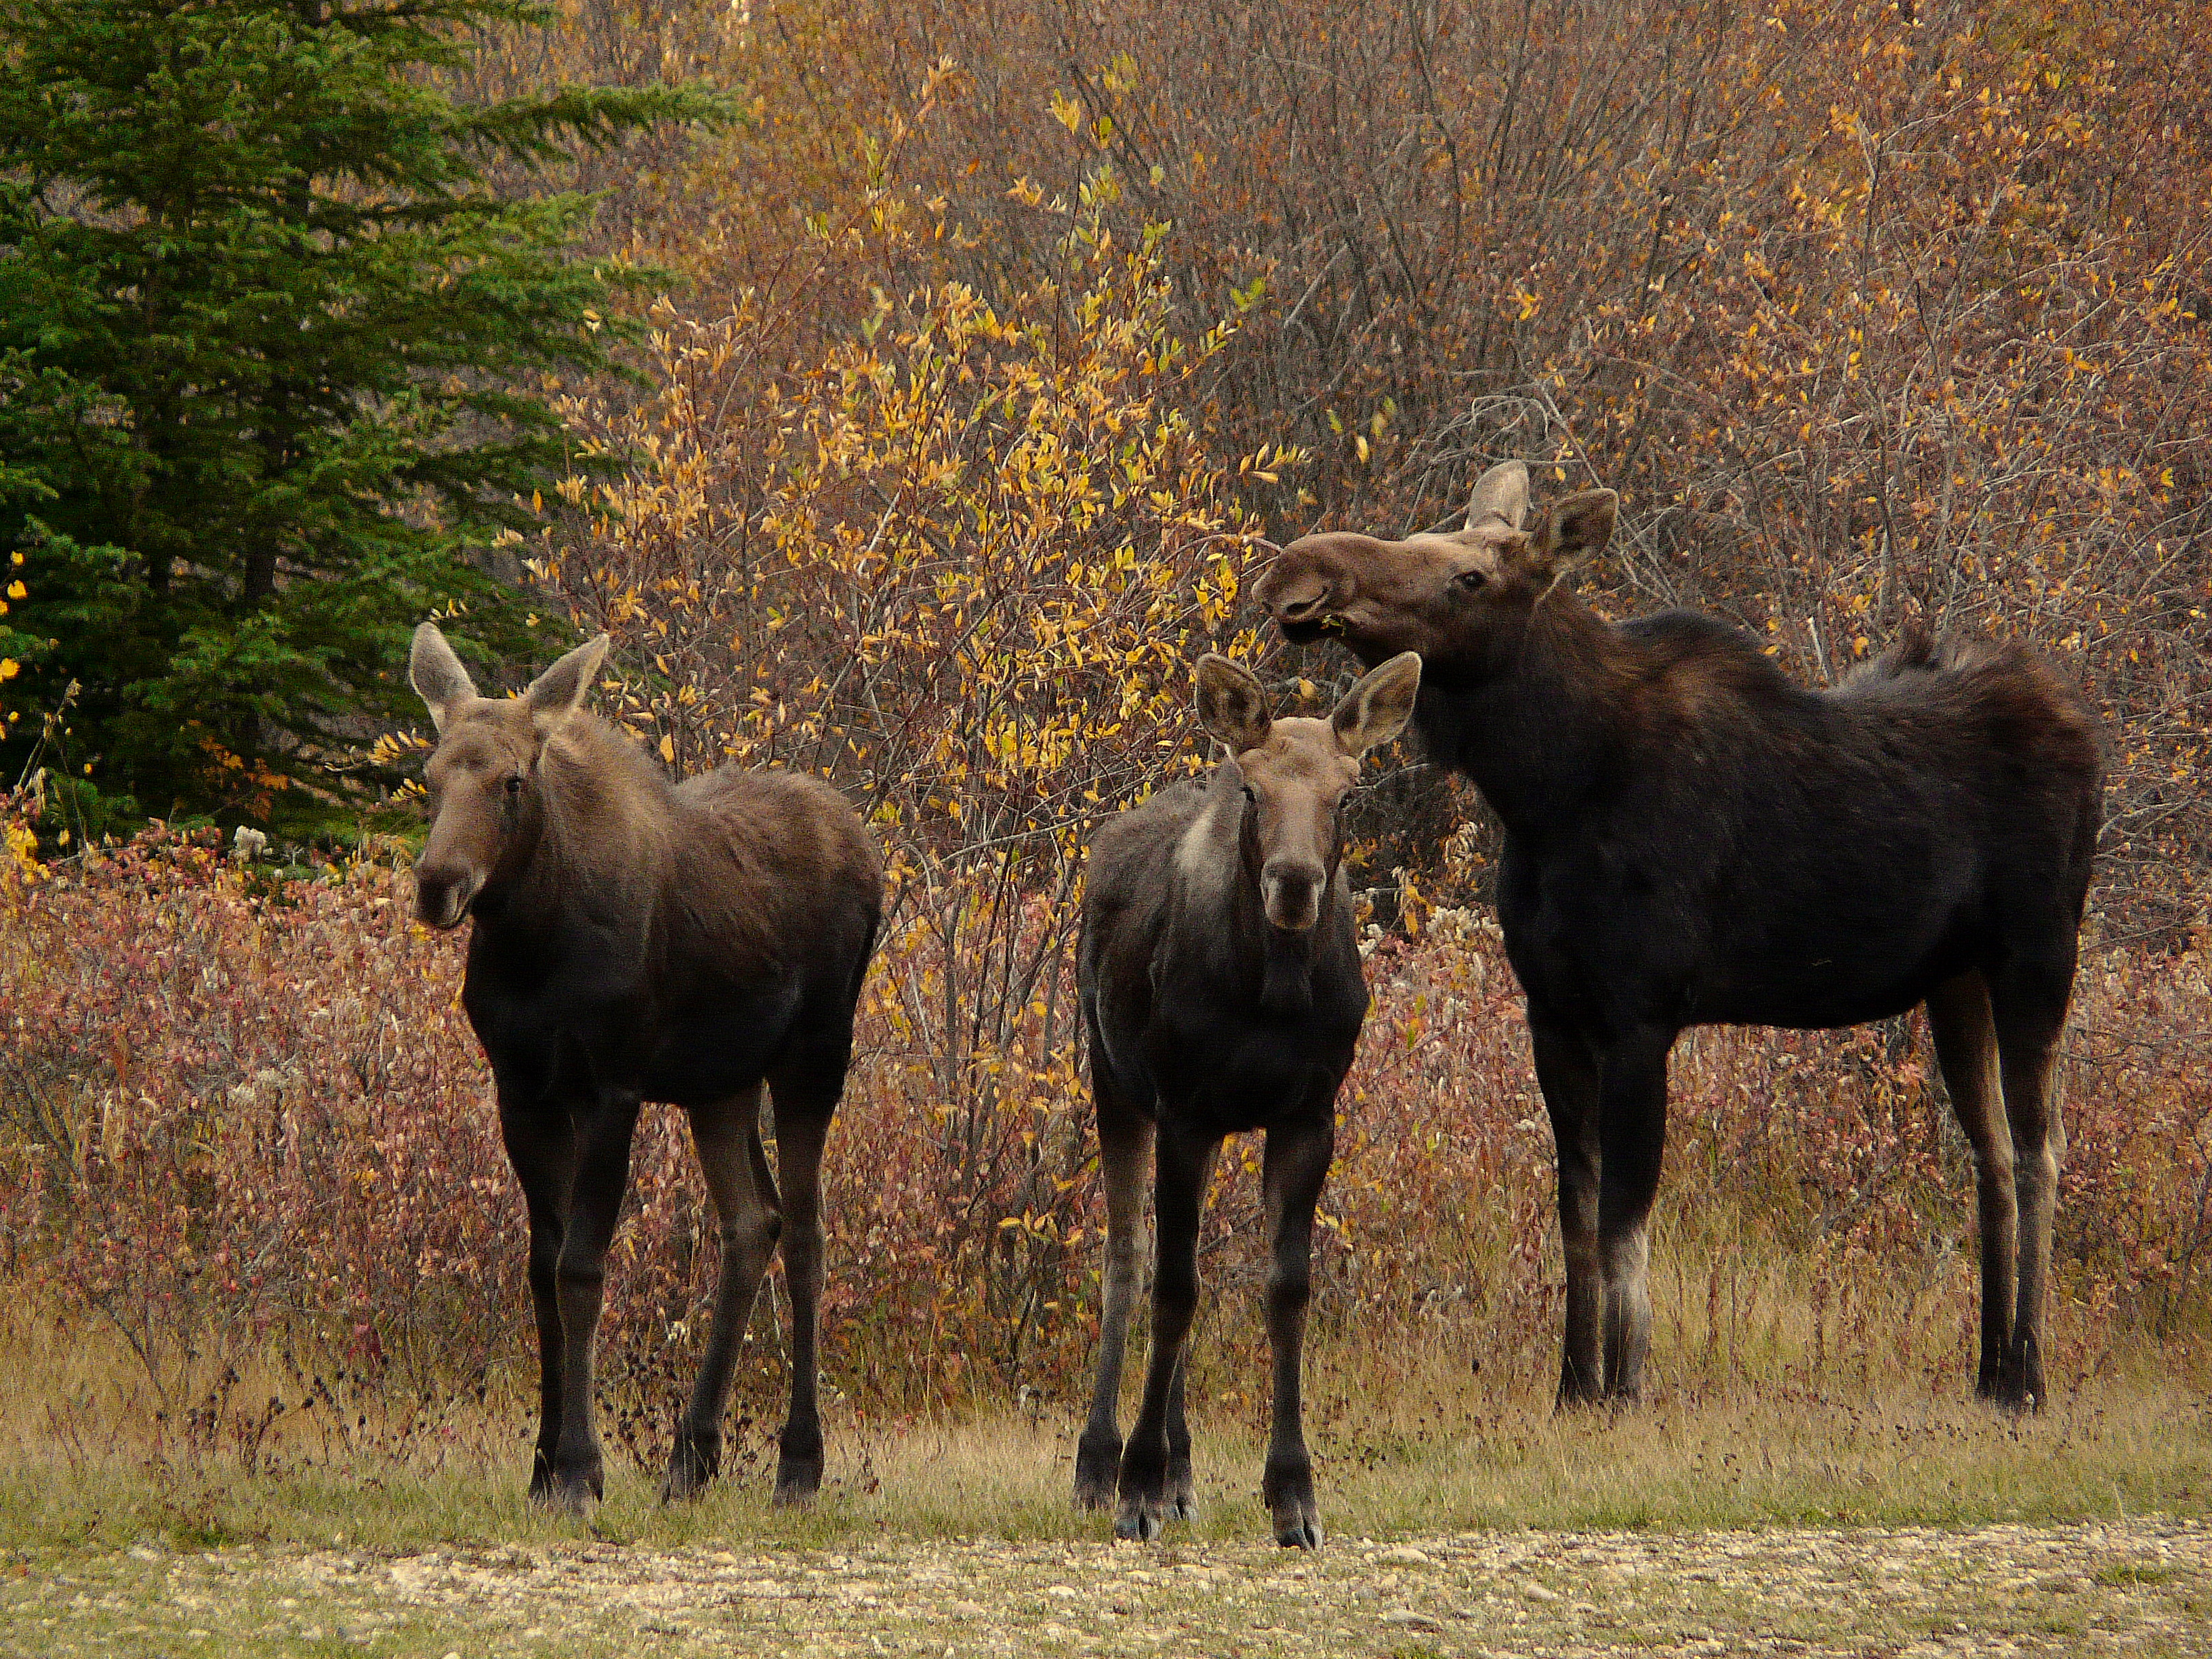
[[[1599,1079],[1597,1267],[1606,1283],[1606,1396],[1644,1396],[1652,1296],[1650,1214],[1666,1159],[1666,1055],[1672,1031],[1615,1042]]]

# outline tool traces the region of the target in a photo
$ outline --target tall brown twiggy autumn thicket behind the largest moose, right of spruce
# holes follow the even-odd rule
[[[648,0],[566,49],[763,88],[624,190],[686,321],[743,334],[714,414],[945,281],[1079,338],[1071,230],[1148,246],[1179,336],[1234,325],[1177,398],[1217,465],[1265,453],[1237,484],[1276,538],[1438,522],[1524,456],[1624,491],[1619,613],[1723,611],[1814,681],[1911,622],[2053,650],[2112,719],[2126,931],[2192,918],[2212,852],[2208,40],[2201,4],[2075,0]],[[929,232],[878,234],[887,206]],[[719,522],[772,511],[754,453]],[[1429,805],[1391,858],[1471,807]]]

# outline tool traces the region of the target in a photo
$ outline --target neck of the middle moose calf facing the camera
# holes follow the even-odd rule
[[[1314,1006],[1314,942],[1334,918],[1336,872],[1314,927],[1303,933],[1276,927],[1259,891],[1254,834],[1243,772],[1223,761],[1175,849],[1168,940],[1179,956],[1201,962],[1210,982],[1250,993],[1261,1013],[1298,1018]]]

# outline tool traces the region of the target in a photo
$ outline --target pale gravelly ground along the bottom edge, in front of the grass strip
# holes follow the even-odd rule
[[[2212,1526],[0,1559],[20,1655],[2212,1655]]]

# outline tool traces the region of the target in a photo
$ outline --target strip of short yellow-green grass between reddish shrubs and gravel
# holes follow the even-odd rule
[[[2035,1418],[1971,1400],[1827,1398],[1732,1389],[1626,1411],[1555,1413],[1542,1398],[1323,1400],[1314,1422],[1323,1517],[1336,1533],[1464,1528],[1714,1528],[2126,1520],[2212,1515],[2212,1411],[2177,1385],[2084,1389]],[[126,1440],[64,1455],[18,1436],[0,1473],[0,1546],[86,1548],[157,1540],[416,1548],[438,1542],[580,1537],[533,1511],[522,1407],[489,1409],[405,1451],[325,1455],[263,1447],[153,1458]],[[684,1546],[763,1537],[1104,1537],[1066,1504],[1073,1420],[830,1420],[830,1480],[812,1511],[765,1502],[772,1447],[732,1449],[697,1504],[661,1509],[657,1471],[611,1449],[597,1537]],[[1261,1444],[1241,1425],[1199,1425],[1199,1537],[1263,1528]]]

